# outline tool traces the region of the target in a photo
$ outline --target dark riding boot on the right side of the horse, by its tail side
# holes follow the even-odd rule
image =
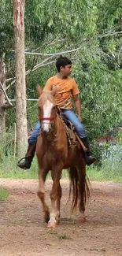
[[[86,164],[92,165],[96,159],[94,157],[91,157],[87,137],[82,138],[82,142],[83,142],[84,146],[87,147],[87,151],[86,152],[83,151],[83,156],[85,158]]]

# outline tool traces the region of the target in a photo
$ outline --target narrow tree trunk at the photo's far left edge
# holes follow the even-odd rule
[[[6,89],[6,65],[3,58],[0,58],[0,82]],[[5,95],[0,86],[0,143],[3,141],[4,135],[6,134],[6,109],[3,106],[5,106]]]

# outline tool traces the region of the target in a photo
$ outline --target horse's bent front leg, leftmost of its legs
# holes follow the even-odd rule
[[[39,196],[42,204],[43,204],[43,211],[44,211],[44,219],[46,223],[50,220],[50,210],[49,207],[46,205],[45,202],[45,190],[44,190],[44,183],[46,180],[46,173],[44,170],[42,172],[41,169],[39,169],[39,188],[37,195]]]

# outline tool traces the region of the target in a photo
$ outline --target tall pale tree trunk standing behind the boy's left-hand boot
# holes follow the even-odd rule
[[[17,154],[23,156],[28,143],[24,55],[24,0],[14,0],[13,2],[13,24],[16,58]]]

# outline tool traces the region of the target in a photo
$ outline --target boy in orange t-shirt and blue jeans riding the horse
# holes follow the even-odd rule
[[[79,88],[76,81],[70,77],[72,72],[72,61],[61,56],[57,58],[56,68],[57,75],[52,76],[47,80],[43,91],[52,91],[54,88],[57,88],[57,93],[55,95],[56,105],[61,109],[61,113],[65,116],[65,119],[74,125],[77,135],[79,135],[84,146],[87,147],[87,151],[83,152],[83,157],[85,158],[86,164],[91,165],[94,163],[95,158],[90,156],[87,134],[82,123]],[[72,98],[76,106],[77,115],[72,109]],[[36,141],[40,128],[41,124],[38,121],[31,134],[31,138],[29,139],[28,151],[24,161],[18,163],[18,166],[21,169],[29,169],[31,167],[31,161],[35,155]]]

